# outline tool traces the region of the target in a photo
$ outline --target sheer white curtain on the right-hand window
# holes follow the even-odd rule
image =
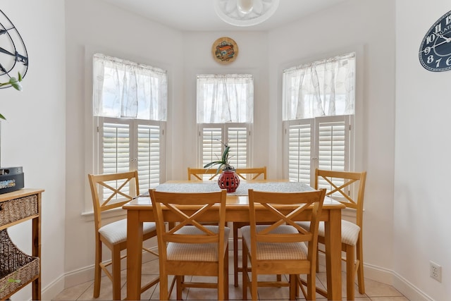
[[[283,120],[354,113],[355,53],[283,71]]]

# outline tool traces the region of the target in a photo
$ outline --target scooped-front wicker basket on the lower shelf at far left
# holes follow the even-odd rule
[[[20,251],[11,242],[6,229],[0,231],[0,299],[16,293],[23,285],[39,276],[39,257]],[[9,279],[20,280],[20,283]]]

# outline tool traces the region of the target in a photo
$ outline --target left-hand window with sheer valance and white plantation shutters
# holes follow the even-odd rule
[[[94,145],[99,173],[137,170],[140,192],[165,171],[167,75],[159,68],[94,54]]]

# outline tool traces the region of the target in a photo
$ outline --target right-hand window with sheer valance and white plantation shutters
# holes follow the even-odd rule
[[[284,166],[292,181],[313,184],[315,168],[353,164],[355,54],[283,71]]]

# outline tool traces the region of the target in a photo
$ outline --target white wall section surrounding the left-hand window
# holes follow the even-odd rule
[[[183,118],[183,51],[180,32],[151,23],[103,1],[66,1],[67,178],[66,285],[94,277],[94,224],[87,173],[92,167],[92,54],[101,52],[168,70],[171,120]],[[169,123],[167,131],[173,132]],[[168,135],[171,137],[171,135]],[[177,137],[177,136],[176,136]],[[168,158],[178,155],[175,137]],[[174,146],[175,145],[175,146]],[[169,160],[171,162],[171,160]],[[171,165],[170,165],[171,166]],[[85,204],[90,204],[85,207]],[[82,214],[85,214],[82,216]],[[109,250],[104,254],[109,256]],[[108,258],[108,257],[105,257]]]

